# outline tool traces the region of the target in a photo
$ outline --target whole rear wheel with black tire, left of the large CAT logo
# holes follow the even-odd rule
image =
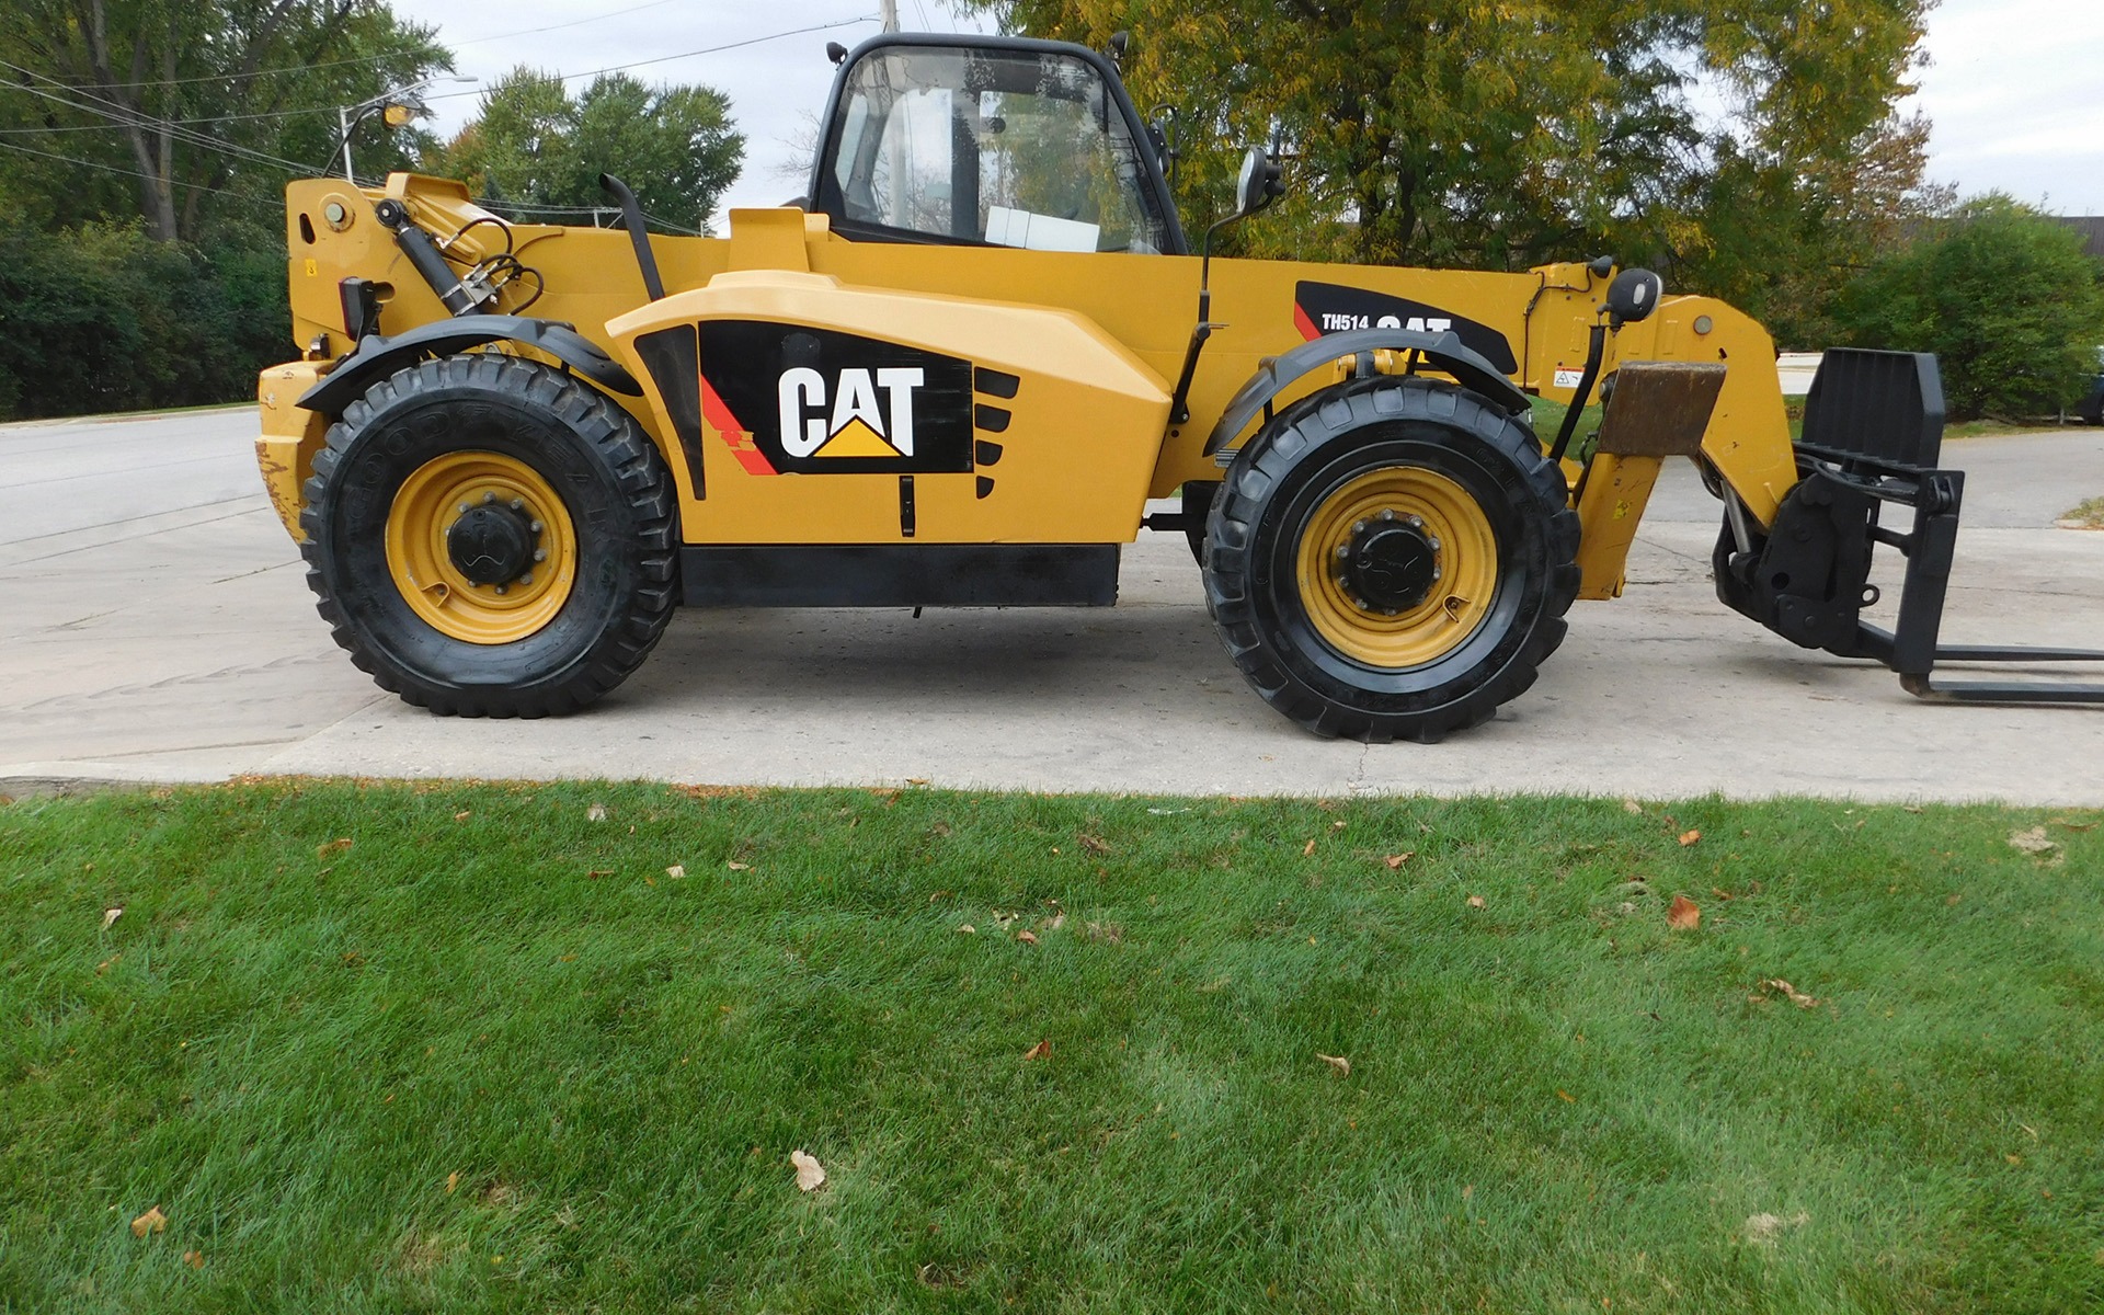
[[[642,665],[677,602],[656,448],[598,391],[511,356],[427,360],[351,402],[301,528],[337,644],[446,715],[576,711]]]

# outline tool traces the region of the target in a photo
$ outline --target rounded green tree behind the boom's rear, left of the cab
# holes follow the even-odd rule
[[[425,168],[526,219],[610,204],[600,175],[616,173],[652,219],[701,231],[743,158],[745,137],[720,90],[602,74],[572,99],[558,74],[520,67]]]

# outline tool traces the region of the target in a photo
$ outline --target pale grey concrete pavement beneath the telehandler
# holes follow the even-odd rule
[[[1111,610],[694,610],[591,713],[431,717],[328,640],[250,436],[246,408],[0,427],[0,789],[322,772],[2104,804],[2104,707],[1923,705],[1723,610],[1685,463],[1628,593],[1572,610],[1534,690],[1443,745],[1365,747],[1258,703],[1166,534],[1128,549]],[[2104,534],[2051,528],[2104,494],[2104,433],[1946,461],[1969,480],[1946,642],[2104,648]]]

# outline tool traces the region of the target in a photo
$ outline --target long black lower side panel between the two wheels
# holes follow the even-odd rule
[[[690,608],[1107,608],[1117,545],[686,547],[680,579]]]

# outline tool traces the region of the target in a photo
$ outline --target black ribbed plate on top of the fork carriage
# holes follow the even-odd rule
[[[1934,467],[1944,444],[1944,381],[1936,358],[1925,351],[1828,349],[1805,396],[1799,442]]]

